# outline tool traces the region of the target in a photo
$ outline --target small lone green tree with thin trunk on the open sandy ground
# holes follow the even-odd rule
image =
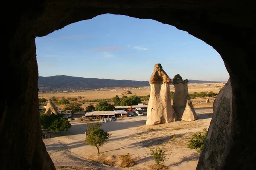
[[[84,142],[96,147],[99,153],[101,147],[111,135],[102,129],[101,123],[88,125]]]

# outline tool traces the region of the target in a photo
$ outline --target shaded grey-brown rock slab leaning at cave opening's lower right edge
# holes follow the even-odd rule
[[[213,102],[213,117],[204,148],[200,154],[197,170],[229,169],[225,168],[225,164],[230,146],[233,144],[232,117],[232,89],[229,79]],[[243,158],[241,158],[242,160]]]

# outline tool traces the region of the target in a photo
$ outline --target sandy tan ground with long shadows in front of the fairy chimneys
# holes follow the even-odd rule
[[[150,149],[161,148],[166,151],[165,165],[169,169],[195,170],[199,153],[188,149],[187,144],[192,134],[209,127],[213,113],[212,108],[199,108],[195,111],[199,119],[194,122],[177,121],[146,126],[146,116],[134,116],[102,123],[103,129],[111,133],[111,137],[105,145],[100,147],[100,155],[97,154],[95,147],[84,143],[87,125],[94,121],[81,122],[80,114],[75,114],[75,120],[70,121],[72,127],[69,131],[51,133],[52,138],[43,139],[43,141],[47,152],[58,166],[65,162],[67,164],[67,162],[109,162],[111,160],[117,168],[119,155],[129,153],[135,160],[135,166],[125,169],[150,170],[150,166],[154,164]],[[175,139],[173,139],[174,134],[178,136]]]

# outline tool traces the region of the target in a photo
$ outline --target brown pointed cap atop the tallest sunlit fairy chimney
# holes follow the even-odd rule
[[[155,83],[166,83],[170,84],[172,81],[169,76],[167,76],[166,72],[163,71],[163,67],[160,63],[155,64],[154,72],[150,77],[149,84]]]

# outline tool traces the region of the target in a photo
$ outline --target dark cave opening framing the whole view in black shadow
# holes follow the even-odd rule
[[[252,62],[256,46],[253,1],[43,0],[15,4],[4,1],[0,13],[4,42],[0,102],[0,136],[4,140],[0,141],[0,169],[54,169],[41,139],[35,37],[106,13],[148,18],[175,26],[218,51],[232,86],[231,121],[226,125],[231,133],[221,162],[209,160],[207,164],[198,164],[197,169],[255,169],[255,137],[251,135],[256,132],[256,92],[252,86],[256,82],[252,79],[256,75]],[[216,148],[215,151],[222,150]]]

